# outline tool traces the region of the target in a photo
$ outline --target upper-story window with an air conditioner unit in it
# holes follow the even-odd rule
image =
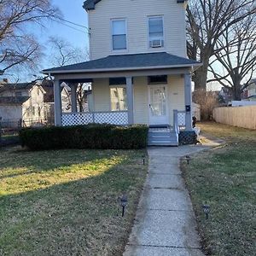
[[[149,48],[164,47],[164,22],[162,16],[148,17]]]

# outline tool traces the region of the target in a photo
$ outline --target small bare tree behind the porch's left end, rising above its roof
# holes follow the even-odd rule
[[[89,53],[87,49],[80,49],[69,44],[67,40],[59,37],[50,37],[49,44],[51,44],[51,52],[49,59],[52,64],[57,67],[74,64],[77,62],[83,62],[89,60]],[[77,85],[77,101],[79,103],[79,112],[84,111],[84,84],[72,84]],[[66,90],[67,92],[67,90]],[[69,93],[67,97],[70,101]]]

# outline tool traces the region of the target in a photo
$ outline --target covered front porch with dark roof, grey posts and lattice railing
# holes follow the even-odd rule
[[[44,71],[55,77],[55,125],[167,125],[177,138],[181,127],[193,131],[194,65],[195,61],[154,53],[113,55]],[[61,111],[62,82],[71,88],[72,113]],[[93,108],[86,113],[77,111],[78,83],[91,83]]]

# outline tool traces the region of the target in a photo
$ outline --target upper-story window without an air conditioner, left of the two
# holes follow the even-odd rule
[[[126,49],[126,20],[112,20],[112,49]]]

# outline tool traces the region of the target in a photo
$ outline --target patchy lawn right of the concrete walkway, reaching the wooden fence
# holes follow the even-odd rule
[[[216,123],[198,126],[226,142],[196,154],[189,166],[182,162],[203,247],[209,255],[255,255],[256,131]],[[208,220],[201,208],[206,201]]]

